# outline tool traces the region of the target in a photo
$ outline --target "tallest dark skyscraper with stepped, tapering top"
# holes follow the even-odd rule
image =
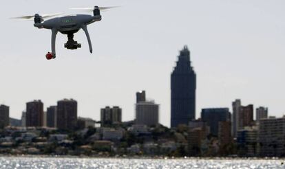
[[[196,73],[191,67],[187,46],[180,51],[171,74],[171,127],[188,124],[195,119]]]

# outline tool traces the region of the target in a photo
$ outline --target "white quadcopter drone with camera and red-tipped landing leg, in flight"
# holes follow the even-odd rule
[[[87,25],[94,23],[96,21],[101,21],[102,16],[100,14],[101,10],[109,10],[111,8],[116,8],[116,6],[113,7],[98,7],[94,6],[94,8],[72,8],[72,10],[87,10],[92,12],[93,16],[89,14],[72,14],[67,16],[60,16],[60,17],[54,17],[59,16],[61,13],[57,14],[34,14],[31,16],[21,16],[21,17],[15,17],[12,19],[23,19],[23,20],[32,20],[34,19],[34,27],[37,27],[39,29],[48,29],[52,30],[52,52],[47,52],[45,55],[45,58],[47,60],[51,60],[53,58],[56,58],[56,34],[58,32],[61,32],[61,34],[66,34],[68,41],[64,44],[64,47],[67,49],[77,49],[81,48],[81,44],[77,43],[77,41],[74,41],[74,34],[76,34],[79,30],[83,30],[87,36],[87,41],[89,45],[89,51],[92,54],[92,42],[89,36],[89,32],[87,30]],[[43,19],[53,17],[52,19],[48,19],[44,21]]]

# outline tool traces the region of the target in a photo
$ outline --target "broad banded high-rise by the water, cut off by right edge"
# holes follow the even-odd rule
[[[284,157],[285,117],[260,119],[258,143],[262,157]]]

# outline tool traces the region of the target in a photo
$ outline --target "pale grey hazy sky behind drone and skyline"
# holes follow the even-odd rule
[[[102,12],[89,25],[94,46],[89,54],[81,30],[74,40],[82,48],[63,47],[58,34],[55,60],[50,30],[33,21],[8,18],[68,8],[121,5]],[[25,102],[41,99],[45,108],[63,98],[78,101],[78,115],[100,119],[104,106],[120,106],[123,120],[134,119],[135,93],[160,104],[160,122],[170,124],[170,74],[179,50],[188,45],[197,74],[197,109],[242,104],[268,106],[285,113],[284,0],[10,0],[1,2],[0,104],[11,117],[21,117]],[[80,12],[78,12],[80,13]],[[90,13],[91,14],[91,13]]]

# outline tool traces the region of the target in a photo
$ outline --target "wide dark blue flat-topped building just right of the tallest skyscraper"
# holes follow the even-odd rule
[[[231,113],[228,108],[202,109],[201,120],[207,122],[211,135],[218,137],[219,122],[231,122]]]

